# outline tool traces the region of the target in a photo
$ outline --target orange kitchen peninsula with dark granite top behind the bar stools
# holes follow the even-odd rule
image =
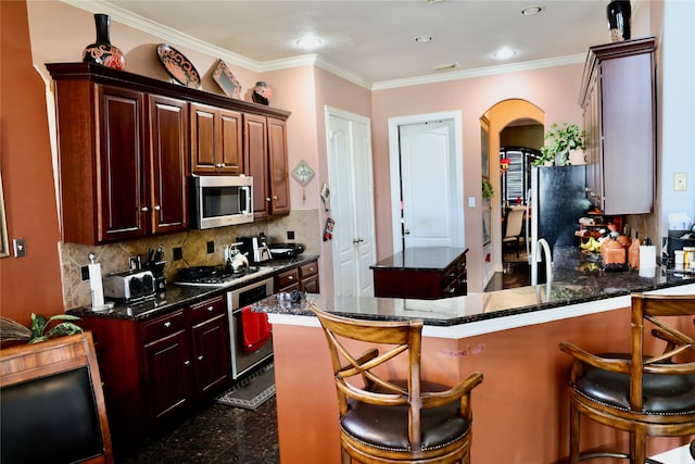
[[[472,396],[472,462],[556,463],[566,457],[570,359],[558,343],[568,340],[597,352],[629,350],[631,292],[695,293],[692,276],[659,268],[654,277],[636,271],[593,272],[572,261],[574,255],[567,250],[563,265],[554,266],[557,279],[542,286],[443,300],[307,294],[299,304],[278,296],[254,304],[255,311],[269,313],[273,324],[281,462],[340,462],[328,349],[307,301],[349,317],[424,319],[421,364],[429,380],[454,385],[482,372],[483,384]],[[683,329],[692,330],[692,324]],[[585,429],[583,448],[627,447],[627,436],[595,424]],[[686,442],[652,440],[649,454]]]

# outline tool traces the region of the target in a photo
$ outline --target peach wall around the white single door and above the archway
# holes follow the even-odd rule
[[[389,178],[390,117],[443,111],[463,114],[464,202],[475,197],[477,206],[466,208],[466,246],[468,291],[483,289],[482,213],[480,191],[480,117],[494,104],[521,99],[536,105],[546,122],[581,124],[582,112],[577,103],[583,63],[494,76],[473,77],[406,88],[372,92],[372,147],[377,215],[377,252],[383,259],[393,252],[391,237],[391,203]],[[491,122],[493,124],[494,122]],[[493,156],[491,155],[491,159]]]

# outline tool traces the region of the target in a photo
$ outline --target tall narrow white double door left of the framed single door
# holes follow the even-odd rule
[[[333,279],[337,296],[371,297],[376,263],[369,120],[327,108]]]

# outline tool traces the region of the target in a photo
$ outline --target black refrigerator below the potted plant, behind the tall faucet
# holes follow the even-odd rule
[[[531,285],[546,280],[546,263],[552,262],[555,247],[579,244],[574,231],[579,229],[579,218],[590,209],[585,187],[584,165],[532,166],[529,191],[531,201],[527,203],[527,250],[531,264]],[[548,251],[551,256],[546,256]]]

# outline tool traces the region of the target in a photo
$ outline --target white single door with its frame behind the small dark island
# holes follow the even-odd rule
[[[464,247],[459,114],[390,122],[394,252]]]

